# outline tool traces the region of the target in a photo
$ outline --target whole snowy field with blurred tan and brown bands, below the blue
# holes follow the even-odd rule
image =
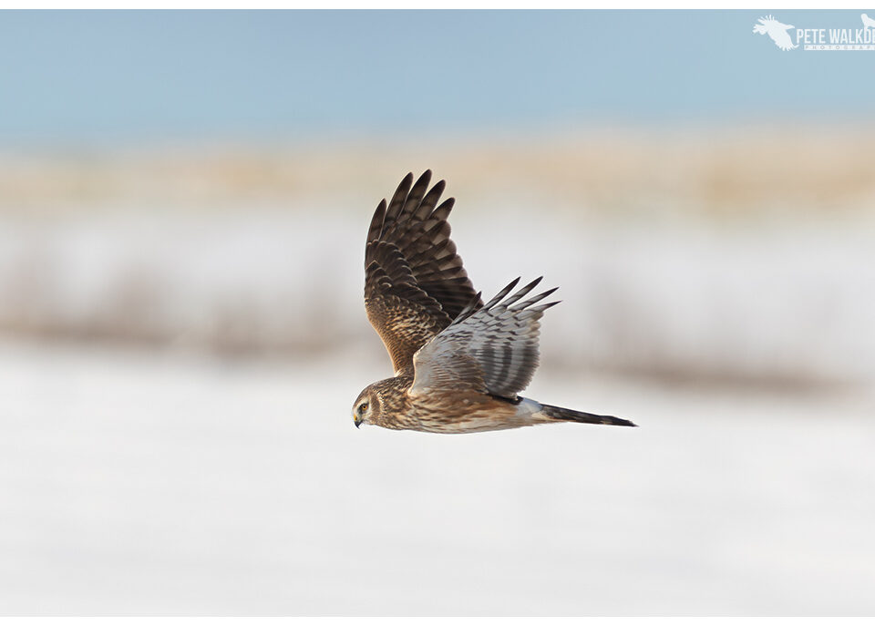
[[[792,137],[0,159],[0,613],[875,612],[871,142]],[[398,163],[640,428],[355,429]]]

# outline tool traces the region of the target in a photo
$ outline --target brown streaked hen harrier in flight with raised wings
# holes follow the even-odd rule
[[[535,424],[635,426],[611,416],[542,405],[517,395],[538,367],[540,303],[520,302],[540,278],[511,293],[516,279],[484,304],[468,280],[427,170],[407,174],[376,207],[365,245],[365,311],[386,344],[395,376],[368,385],[353,405],[355,426],[473,433]],[[426,192],[428,190],[428,192]]]

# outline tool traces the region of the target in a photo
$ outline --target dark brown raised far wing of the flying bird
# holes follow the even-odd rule
[[[427,191],[430,181],[430,169],[416,184],[407,174],[377,206],[365,244],[365,311],[396,374],[412,374],[417,350],[468,304],[482,304],[449,239],[455,200],[438,206],[445,183]]]

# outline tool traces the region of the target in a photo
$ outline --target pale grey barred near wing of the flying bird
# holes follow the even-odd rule
[[[538,367],[540,317],[557,304],[533,306],[555,288],[518,304],[540,278],[509,296],[518,282],[519,278],[485,306],[468,307],[417,352],[410,394],[476,391],[510,400],[517,398]]]

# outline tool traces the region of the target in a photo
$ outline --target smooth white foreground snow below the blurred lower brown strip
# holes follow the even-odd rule
[[[868,393],[547,366],[641,427],[356,430],[386,369],[0,344],[0,612],[875,611]]]

